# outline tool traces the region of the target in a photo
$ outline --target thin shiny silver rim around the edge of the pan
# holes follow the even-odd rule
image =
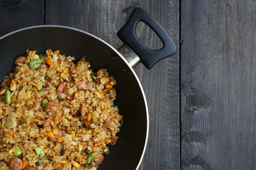
[[[36,29],[36,28],[40,28],[40,27],[58,27],[58,28],[63,28],[63,29],[71,29],[71,30],[74,30],[74,31],[78,31],[78,32],[82,32],[84,34],[87,34],[88,36],[91,36],[92,38],[95,38],[99,41],[101,41],[102,43],[104,43],[105,45],[109,46],[109,48],[111,48],[116,54],[119,55],[119,57],[125,62],[125,64],[129,67],[129,69],[132,71],[132,74],[134,75],[134,77],[136,78],[139,86],[140,86],[140,90],[141,90],[141,93],[142,93],[142,96],[143,96],[143,99],[144,99],[144,103],[145,103],[145,108],[146,108],[146,116],[147,116],[147,132],[146,132],[146,139],[145,139],[145,144],[144,144],[144,148],[143,148],[143,152],[141,154],[141,158],[140,158],[140,161],[138,162],[138,165],[136,167],[136,170],[139,169],[140,167],[140,164],[143,160],[143,157],[144,157],[144,154],[145,154],[145,151],[146,151],[146,148],[147,148],[147,143],[148,143],[148,131],[149,131],[149,114],[148,114],[148,104],[147,104],[147,99],[146,99],[146,96],[145,96],[145,92],[143,90],[143,87],[140,83],[140,80],[137,76],[137,74],[135,73],[134,69],[132,69],[132,67],[129,65],[129,63],[127,62],[127,60],[125,60],[124,56],[118,52],[113,46],[109,45],[109,43],[107,43],[106,41],[104,41],[103,39],[89,33],[89,32],[86,32],[86,31],[83,31],[81,29],[76,29],[74,27],[68,27],[68,26],[64,26],[64,25],[34,25],[34,26],[30,26],[30,27],[24,27],[22,29],[17,29],[15,31],[12,31],[12,32],[9,32],[7,34],[4,34],[3,36],[0,37],[0,40],[1,39],[4,39],[12,34],[15,34],[17,32],[21,32],[21,31],[26,31],[28,29]]]

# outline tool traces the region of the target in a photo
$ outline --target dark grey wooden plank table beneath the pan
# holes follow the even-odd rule
[[[116,32],[134,6],[154,16],[177,45],[175,55],[150,71],[135,68],[150,113],[140,169],[254,169],[254,0],[0,0],[0,36],[31,25],[67,25],[118,48]],[[161,46],[146,25],[137,34],[149,48]]]

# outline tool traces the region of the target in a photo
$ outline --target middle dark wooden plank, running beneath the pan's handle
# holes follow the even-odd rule
[[[130,6],[151,13],[179,44],[179,1],[46,1],[45,24],[58,24],[88,31],[118,48],[116,32],[125,24]],[[160,43],[145,25],[138,36],[149,47]],[[178,46],[179,50],[179,46]],[[145,90],[150,112],[147,152],[140,169],[179,169],[179,53],[159,62],[150,71],[135,68]]]

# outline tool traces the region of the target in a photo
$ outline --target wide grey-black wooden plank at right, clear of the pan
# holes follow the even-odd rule
[[[181,1],[182,169],[255,169],[255,1]]]

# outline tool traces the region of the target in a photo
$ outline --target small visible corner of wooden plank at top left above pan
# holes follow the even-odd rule
[[[44,24],[44,1],[0,0],[0,36],[22,27]]]

